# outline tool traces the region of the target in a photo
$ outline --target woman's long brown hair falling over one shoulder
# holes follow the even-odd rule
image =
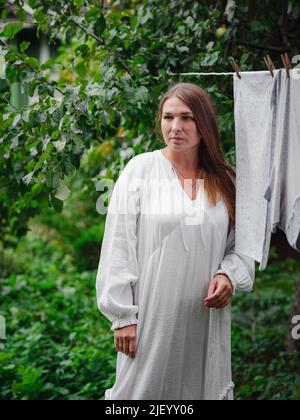
[[[220,133],[214,103],[207,92],[193,83],[177,83],[160,100],[156,131],[159,140],[165,144],[161,133],[162,109],[165,101],[176,96],[192,110],[197,129],[201,135],[199,153],[199,175],[204,179],[209,203],[215,206],[217,194],[223,198],[230,219],[235,225],[235,171],[225,161],[220,148]]]

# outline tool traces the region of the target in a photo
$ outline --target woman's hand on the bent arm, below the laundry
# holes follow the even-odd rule
[[[217,274],[210,282],[204,305],[208,308],[225,308],[231,302],[232,293],[229,278],[225,274]]]

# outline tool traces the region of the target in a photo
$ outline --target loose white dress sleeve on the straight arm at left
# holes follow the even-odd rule
[[[137,324],[132,285],[138,281],[137,220],[139,191],[134,158],[117,179],[109,201],[96,280],[97,305],[111,330]]]

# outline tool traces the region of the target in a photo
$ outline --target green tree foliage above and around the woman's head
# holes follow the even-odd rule
[[[14,242],[45,205],[58,212],[70,194],[67,177],[91,153],[93,175],[116,176],[124,159],[151,150],[160,95],[177,81],[201,84],[219,111],[222,146],[233,145],[230,78],[182,78],[169,72],[260,70],[262,57],[297,52],[296,0],[4,1],[17,23],[0,33],[0,237]],[[27,7],[26,7],[27,6]],[[30,9],[28,9],[28,6]],[[28,42],[14,42],[28,13],[37,35],[59,39],[58,56],[39,63]],[[55,78],[53,77],[55,75]],[[11,106],[19,82],[38,100]],[[230,155],[229,155],[230,156]]]

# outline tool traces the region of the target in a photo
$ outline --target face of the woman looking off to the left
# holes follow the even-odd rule
[[[201,136],[191,109],[175,96],[163,104],[161,131],[166,145],[174,151],[186,150],[200,143]]]

